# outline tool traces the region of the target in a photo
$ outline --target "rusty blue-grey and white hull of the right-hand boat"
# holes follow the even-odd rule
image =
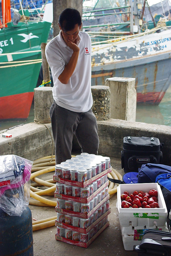
[[[92,85],[136,78],[137,103],[158,105],[171,84],[171,30],[92,47]]]

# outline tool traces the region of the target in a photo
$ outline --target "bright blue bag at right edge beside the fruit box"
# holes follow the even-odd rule
[[[161,187],[168,214],[171,209],[171,173],[162,173],[155,180]]]

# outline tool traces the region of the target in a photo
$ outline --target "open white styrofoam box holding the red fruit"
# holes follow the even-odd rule
[[[121,194],[127,191],[129,194],[136,191],[149,192],[156,189],[158,192],[159,208],[122,208]],[[158,183],[137,183],[119,184],[117,190],[116,212],[121,226],[149,226],[153,227],[154,222],[158,227],[163,227],[167,220],[167,208],[161,188]]]

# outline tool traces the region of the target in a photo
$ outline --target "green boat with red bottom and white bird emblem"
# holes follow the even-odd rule
[[[25,16],[20,21],[18,14],[12,22],[10,1],[2,0],[2,10],[4,4],[5,16],[0,24],[0,119],[25,119],[42,63],[40,45],[47,42],[51,22],[29,21]]]

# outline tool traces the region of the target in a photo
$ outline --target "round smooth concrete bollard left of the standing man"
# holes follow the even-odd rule
[[[53,103],[52,87],[38,87],[34,89],[35,120],[51,122],[49,109]]]

